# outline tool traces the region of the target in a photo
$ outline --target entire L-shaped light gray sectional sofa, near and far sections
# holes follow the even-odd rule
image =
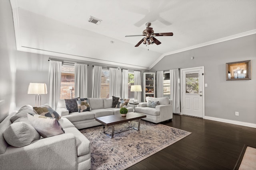
[[[95,117],[120,114],[120,108],[112,108],[112,98],[90,98],[92,110],[81,113],[69,113],[64,100],[60,100],[58,106],[56,111],[61,118],[57,122],[61,130],[64,130],[64,133],[59,135],[40,137],[30,125],[28,113],[36,114],[36,112],[29,105],[14,111],[0,123],[1,170],[89,170],[91,168],[90,141],[78,129],[100,125],[95,121]],[[133,111],[132,107],[127,109],[129,112]],[[17,118],[15,121],[14,117]],[[50,119],[56,121],[55,118]],[[30,129],[26,130],[22,126],[13,129],[17,125],[25,125],[25,128],[30,127]],[[7,134],[6,130],[13,131],[15,135]],[[34,133],[37,134],[31,138],[31,134]],[[24,146],[16,146],[16,143],[15,146],[10,145],[9,143],[13,141],[7,140],[6,134],[22,143],[24,140],[27,142],[27,139],[30,141]]]

